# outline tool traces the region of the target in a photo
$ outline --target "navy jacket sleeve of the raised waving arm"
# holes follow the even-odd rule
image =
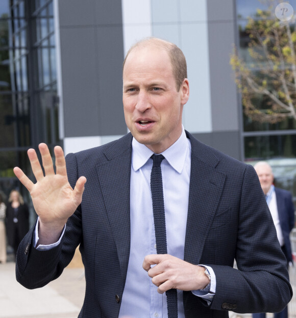
[[[67,156],[67,173],[69,182],[74,187],[78,177],[73,154]],[[36,223],[21,241],[16,258],[16,279],[29,289],[43,287],[58,278],[71,261],[82,237],[80,206],[68,219],[60,245],[51,250],[40,251],[34,248],[35,226]]]

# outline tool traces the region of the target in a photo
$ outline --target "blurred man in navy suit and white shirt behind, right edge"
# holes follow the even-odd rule
[[[294,204],[290,192],[274,187],[274,174],[272,167],[264,161],[255,166],[261,188],[265,194],[270,213],[277,230],[277,237],[287,260],[287,266],[293,262],[289,234],[294,227]],[[254,318],[265,318],[265,313],[254,313]],[[288,317],[288,307],[275,313],[277,318]]]

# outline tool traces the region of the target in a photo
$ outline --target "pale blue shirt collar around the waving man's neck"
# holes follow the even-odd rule
[[[143,144],[140,144],[135,138],[132,141],[132,167],[137,171],[153,155],[153,151]],[[181,173],[185,164],[186,153],[188,151],[188,142],[185,129],[182,125],[182,134],[179,139],[161,154],[164,155],[169,165],[177,172]]]

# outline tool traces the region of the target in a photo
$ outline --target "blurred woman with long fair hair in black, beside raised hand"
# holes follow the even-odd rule
[[[9,195],[6,209],[6,232],[8,244],[16,256],[17,248],[24,235],[29,231],[29,208],[16,190]]]

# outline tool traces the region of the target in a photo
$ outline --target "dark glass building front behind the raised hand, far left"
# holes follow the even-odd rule
[[[0,136],[0,190],[28,197],[13,167],[33,178],[27,150],[61,144],[52,0],[1,2]]]

